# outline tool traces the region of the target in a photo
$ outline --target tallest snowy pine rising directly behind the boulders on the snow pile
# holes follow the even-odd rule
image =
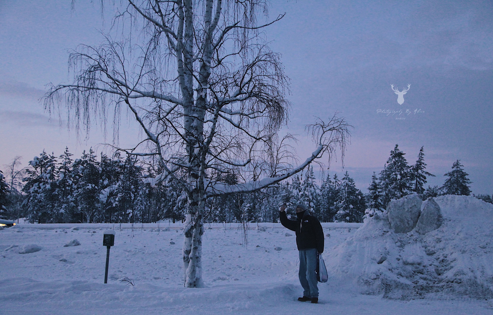
[[[399,145],[390,151],[390,157],[384,170],[380,172],[380,182],[384,193],[384,204],[393,199],[399,199],[411,192],[410,167],[405,153],[399,150]]]

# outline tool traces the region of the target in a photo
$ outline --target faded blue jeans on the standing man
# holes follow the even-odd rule
[[[300,278],[303,287],[303,295],[309,298],[318,297],[317,287],[317,249],[299,251],[300,254]]]

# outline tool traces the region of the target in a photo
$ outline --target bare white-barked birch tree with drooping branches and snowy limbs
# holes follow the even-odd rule
[[[132,148],[113,146],[153,159],[163,170],[153,182],[171,179],[186,192],[184,285],[201,287],[206,199],[266,188],[324,154],[343,155],[349,125],[337,116],[317,120],[309,126],[312,155],[276,171],[269,161],[287,122],[288,79],[262,30],[283,15],[268,20],[265,0],[121,3],[105,42],[70,54],[74,80],[52,86],[45,108],[65,105],[86,132],[111,117],[118,130],[127,108],[143,137]]]

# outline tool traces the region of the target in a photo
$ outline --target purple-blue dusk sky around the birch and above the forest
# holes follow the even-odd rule
[[[70,2],[0,1],[2,170],[16,155],[26,165],[43,149],[60,155],[69,146],[79,156],[111,141],[95,126],[77,142],[38,102],[45,84],[69,81],[68,49],[102,40],[99,5],[77,1],[72,11]],[[362,190],[398,143],[411,164],[424,146],[427,170],[437,175],[428,184],[442,185],[460,159],[472,191],[493,193],[491,1],[272,1],[270,17],[283,12],[266,36],[291,79],[285,130],[303,134],[314,116],[340,112],[354,126],[345,166]],[[402,105],[390,84],[411,84]],[[121,130],[123,144],[139,136],[132,123]],[[298,155],[304,160],[312,151],[303,141]],[[340,163],[331,166],[343,171]]]

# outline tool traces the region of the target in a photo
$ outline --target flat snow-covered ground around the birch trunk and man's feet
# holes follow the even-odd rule
[[[325,256],[361,224],[322,223]],[[77,227],[74,230],[72,227]],[[180,224],[19,224],[0,231],[0,314],[493,314],[489,300],[390,300],[319,284],[319,304],[298,302],[294,233],[278,223],[206,225],[207,288],[182,285]],[[211,228],[209,228],[211,227]],[[108,284],[103,231],[116,230]],[[159,230],[157,230],[159,228]],[[288,234],[293,235],[288,235]],[[287,236],[286,236],[287,235]],[[80,246],[67,246],[76,239]],[[173,244],[175,243],[175,244]],[[29,245],[37,245],[41,250]],[[275,247],[282,250],[276,251]],[[20,254],[19,252],[30,252]],[[127,277],[135,285],[122,282]]]

